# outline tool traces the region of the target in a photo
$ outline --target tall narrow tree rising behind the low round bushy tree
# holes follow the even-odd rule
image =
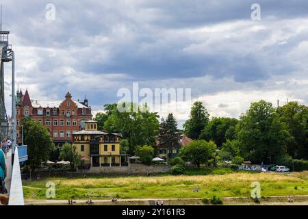
[[[185,135],[194,140],[198,139],[208,122],[209,114],[202,102],[195,102],[190,111],[190,119],[183,125]]]

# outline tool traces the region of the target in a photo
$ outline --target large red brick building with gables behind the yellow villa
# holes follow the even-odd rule
[[[17,91],[16,95],[16,125],[17,142],[21,142],[21,118],[29,116],[41,123],[51,134],[55,144],[71,142],[73,133],[84,129],[84,123],[92,120],[91,107],[88,100],[73,101],[68,92],[63,101],[38,101],[30,99],[26,90]]]

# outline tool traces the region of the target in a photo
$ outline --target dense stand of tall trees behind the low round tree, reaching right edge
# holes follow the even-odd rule
[[[308,107],[290,102],[282,107],[259,101],[235,118],[211,118],[201,102],[192,106],[184,133],[194,140],[212,141],[220,159],[242,157],[255,164],[308,159]]]

